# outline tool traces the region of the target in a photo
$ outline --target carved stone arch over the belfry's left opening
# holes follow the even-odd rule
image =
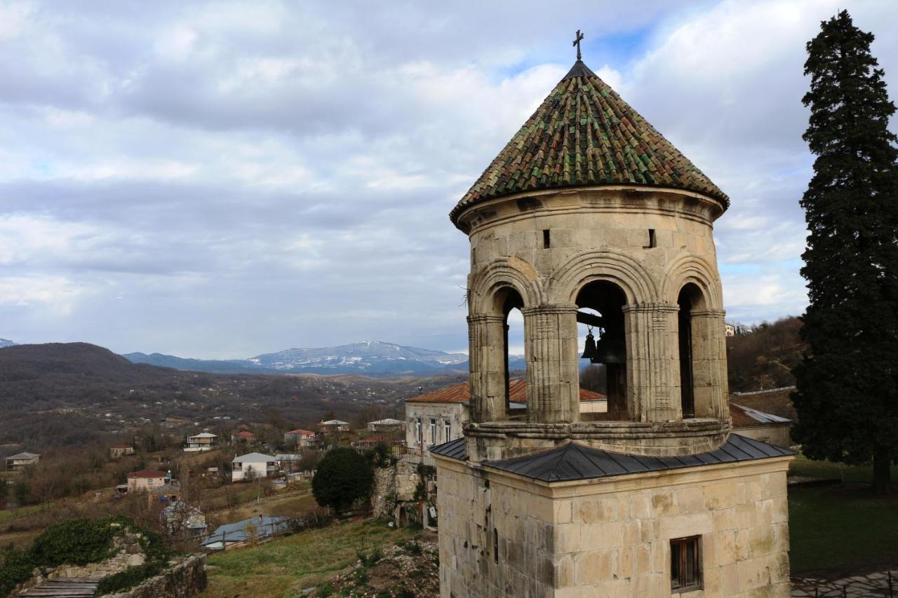
[[[471,277],[471,313],[497,314],[496,296],[503,288],[521,295],[524,307],[541,303],[536,270],[524,259],[495,258]]]

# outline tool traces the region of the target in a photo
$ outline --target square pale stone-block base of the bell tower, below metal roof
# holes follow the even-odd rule
[[[445,598],[669,596],[670,541],[693,535],[703,589],[678,595],[789,594],[788,459],[550,486],[438,463]]]

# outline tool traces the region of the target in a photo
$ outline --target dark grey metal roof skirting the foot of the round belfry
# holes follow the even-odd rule
[[[442,444],[438,448],[451,443]],[[463,447],[463,444],[462,444]],[[457,450],[457,449],[455,449]],[[462,448],[463,450],[463,448]],[[433,452],[434,449],[431,449]],[[453,456],[446,453],[445,456]],[[609,453],[582,444],[569,443],[543,453],[515,457],[503,461],[483,462],[483,465],[497,470],[510,471],[527,478],[547,482],[570,481],[575,479],[607,478],[646,473],[648,471],[676,470],[718,463],[754,461],[770,457],[795,454],[795,451],[762,443],[737,434],[731,434],[726,443],[709,453],[684,455],[682,457],[645,457],[642,455]],[[454,457],[461,459],[462,457]]]

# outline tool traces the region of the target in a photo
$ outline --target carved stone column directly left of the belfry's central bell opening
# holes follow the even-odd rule
[[[579,421],[577,305],[537,305],[522,311],[528,421]]]

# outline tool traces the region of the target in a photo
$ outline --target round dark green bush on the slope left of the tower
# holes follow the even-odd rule
[[[348,448],[329,451],[312,479],[312,494],[321,506],[346,510],[360,498],[371,496],[374,468],[361,454]]]

